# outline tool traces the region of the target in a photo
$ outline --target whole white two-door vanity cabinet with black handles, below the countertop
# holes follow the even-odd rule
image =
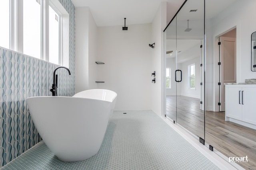
[[[225,120],[256,129],[256,84],[226,85]]]

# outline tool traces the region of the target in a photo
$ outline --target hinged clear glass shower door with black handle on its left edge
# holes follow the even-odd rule
[[[204,0],[188,0],[176,19],[177,123],[204,139]]]

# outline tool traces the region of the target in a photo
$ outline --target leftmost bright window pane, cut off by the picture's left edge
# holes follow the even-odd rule
[[[9,0],[0,0],[0,47],[10,48],[10,4]]]

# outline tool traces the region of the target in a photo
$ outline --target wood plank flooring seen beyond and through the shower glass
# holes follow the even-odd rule
[[[256,170],[256,130],[225,121],[225,112],[206,111],[204,134],[204,111],[200,110],[200,100],[186,96],[166,96],[166,115],[227,157],[247,155],[248,162],[238,164]]]

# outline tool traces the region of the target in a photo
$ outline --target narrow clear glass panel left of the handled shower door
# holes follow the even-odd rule
[[[166,29],[166,70],[170,69],[170,86],[168,88],[168,74],[166,73],[166,117],[176,123],[176,81],[177,70],[177,50],[176,50],[176,17],[172,20]],[[176,77],[177,78],[177,77]]]

